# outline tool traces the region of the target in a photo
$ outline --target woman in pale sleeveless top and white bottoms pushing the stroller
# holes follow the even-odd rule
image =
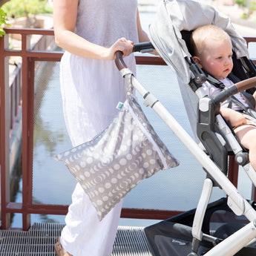
[[[149,41],[142,30],[137,0],[54,0],[56,44],[65,49],[60,83],[66,127],[73,146],[91,140],[116,115],[125,100],[124,79],[114,64],[121,50],[135,72],[134,42]],[[120,202],[102,221],[88,195],[77,184],[57,255],[111,255]]]

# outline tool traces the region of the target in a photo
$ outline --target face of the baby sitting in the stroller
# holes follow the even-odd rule
[[[216,79],[226,78],[233,68],[230,40],[207,40],[206,47],[200,57],[200,65]]]

